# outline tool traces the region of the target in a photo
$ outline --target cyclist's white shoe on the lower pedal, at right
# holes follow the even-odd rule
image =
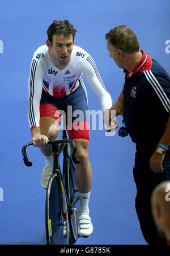
[[[91,217],[86,213],[82,213],[79,216],[79,237],[90,237],[93,233],[93,225],[91,223]]]

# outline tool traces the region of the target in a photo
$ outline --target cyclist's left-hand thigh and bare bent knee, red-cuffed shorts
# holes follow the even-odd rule
[[[58,135],[61,115],[53,96],[42,90],[40,100],[40,129],[43,135],[54,138]]]

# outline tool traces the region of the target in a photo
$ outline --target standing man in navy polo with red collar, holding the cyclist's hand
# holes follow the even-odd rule
[[[169,77],[158,62],[139,49],[137,36],[126,26],[115,27],[105,38],[110,57],[125,72],[124,88],[109,116],[111,110],[123,116],[125,126],[119,135],[129,134],[136,144],[133,174],[141,230],[148,244],[164,244],[154,225],[150,200],[155,186],[170,180]]]

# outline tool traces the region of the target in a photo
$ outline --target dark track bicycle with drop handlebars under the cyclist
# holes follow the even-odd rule
[[[65,130],[62,131],[62,140],[49,141],[48,144],[51,145],[53,154],[53,173],[46,188],[46,242],[48,245],[74,244],[78,239],[79,204],[78,189],[74,180],[74,163],[80,162],[75,156],[76,145],[73,141],[67,140]],[[33,145],[32,142],[22,148],[26,166],[32,166],[26,152],[29,145]],[[62,171],[59,164],[61,151],[63,152]]]

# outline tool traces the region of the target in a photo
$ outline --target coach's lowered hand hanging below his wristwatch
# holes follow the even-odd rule
[[[150,158],[150,168],[154,173],[162,173],[165,154],[158,154],[156,151],[152,154]]]

